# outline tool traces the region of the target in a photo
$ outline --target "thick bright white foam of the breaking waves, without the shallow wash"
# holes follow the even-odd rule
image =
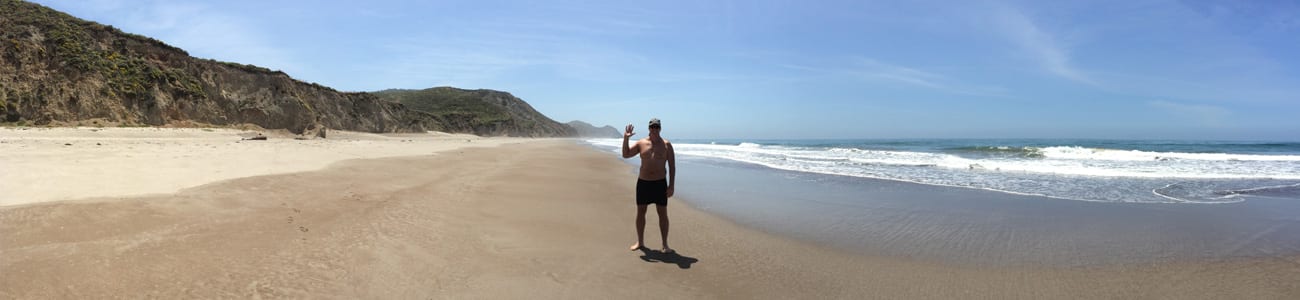
[[[589,140],[592,144],[621,147],[620,140]],[[1300,179],[1300,156],[1178,153],[1117,151],[1082,147],[1045,147],[1043,157],[966,158],[948,153],[875,151],[855,148],[815,148],[760,145],[755,143],[673,145],[680,155],[706,156],[805,170],[810,162],[837,164],[845,171],[863,165],[937,166],[956,170],[1026,171],[1083,177],[1134,178],[1257,178]],[[823,165],[823,164],[816,164]]]

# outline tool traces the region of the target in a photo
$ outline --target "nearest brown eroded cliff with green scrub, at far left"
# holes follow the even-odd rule
[[[448,129],[432,114],[369,94],[195,58],[155,39],[17,0],[0,0],[0,51],[5,122],[252,123],[292,132]]]

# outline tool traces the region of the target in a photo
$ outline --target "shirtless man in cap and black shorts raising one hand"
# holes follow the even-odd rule
[[[672,186],[677,183],[677,160],[672,153],[672,143],[659,136],[659,119],[650,119],[650,136],[637,140],[628,147],[628,138],[632,125],[623,132],[623,158],[641,156],[641,171],[637,175],[637,243],[632,244],[632,251],[645,248],[646,206],[655,205],[659,213],[659,235],[663,236],[663,253],[673,253],[668,248],[668,197],[672,196]],[[668,169],[664,170],[664,164]]]

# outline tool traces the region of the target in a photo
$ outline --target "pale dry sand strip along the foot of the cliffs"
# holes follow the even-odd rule
[[[231,129],[0,129],[0,205],[170,194],[204,183],[322,169],[341,160],[428,155],[517,139],[330,131],[295,140]],[[477,144],[476,144],[477,143]]]

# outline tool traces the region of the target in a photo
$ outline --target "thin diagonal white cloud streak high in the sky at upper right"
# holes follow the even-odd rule
[[[1032,56],[1048,73],[1080,83],[1096,84],[1071,64],[1069,49],[1061,47],[1050,32],[1020,10],[1006,5],[997,6],[994,22],[1005,38]]]

